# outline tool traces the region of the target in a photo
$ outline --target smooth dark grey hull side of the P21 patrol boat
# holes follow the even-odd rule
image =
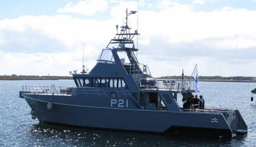
[[[222,113],[169,112],[53,103],[24,96],[40,122],[111,130],[178,133],[232,138]],[[218,123],[212,118],[218,118]]]

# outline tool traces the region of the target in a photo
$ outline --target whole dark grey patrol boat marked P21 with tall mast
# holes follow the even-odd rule
[[[140,64],[127,18],[102,49],[94,68],[73,74],[75,87],[23,86],[19,93],[31,107],[32,119],[98,129],[186,134],[233,138],[247,133],[239,110],[227,108],[183,109],[177,95],[189,98],[195,90],[189,80],[155,79]],[[124,53],[128,58],[120,58]],[[166,83],[166,80],[169,81]]]

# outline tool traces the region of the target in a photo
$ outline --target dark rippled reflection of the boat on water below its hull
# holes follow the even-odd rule
[[[239,146],[244,136],[233,140],[160,135],[148,133],[132,133],[123,131],[109,131],[89,129],[57,124],[32,125],[27,134],[34,141],[33,145],[47,146]],[[32,144],[31,144],[32,145]]]

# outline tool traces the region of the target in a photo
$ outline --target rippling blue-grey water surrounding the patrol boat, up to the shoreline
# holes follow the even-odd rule
[[[238,108],[248,134],[223,140],[202,137],[91,130],[65,125],[39,124],[30,107],[18,98],[22,85],[74,85],[73,80],[0,81],[0,146],[255,146],[256,102],[250,91],[256,83],[200,82],[206,106]],[[255,99],[256,100],[256,99]],[[178,101],[181,104],[181,99]]]

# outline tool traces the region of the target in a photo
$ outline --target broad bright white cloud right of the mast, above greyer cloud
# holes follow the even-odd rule
[[[181,7],[181,9],[179,9]],[[182,10],[183,9],[183,10]],[[182,11],[181,11],[182,10]],[[216,44],[218,48],[233,48],[237,46],[255,47],[256,42],[239,40],[256,40],[256,20],[252,19],[256,11],[245,9],[224,8],[212,12],[194,12],[189,7],[176,5],[160,12],[140,12],[140,29],[143,36],[165,36],[171,43],[195,42],[210,39],[228,38],[228,43]],[[142,27],[143,26],[143,27]],[[150,30],[150,31],[149,31]],[[247,36],[247,37],[246,37]],[[242,39],[243,38],[243,39]],[[220,40],[221,42],[221,40]]]

